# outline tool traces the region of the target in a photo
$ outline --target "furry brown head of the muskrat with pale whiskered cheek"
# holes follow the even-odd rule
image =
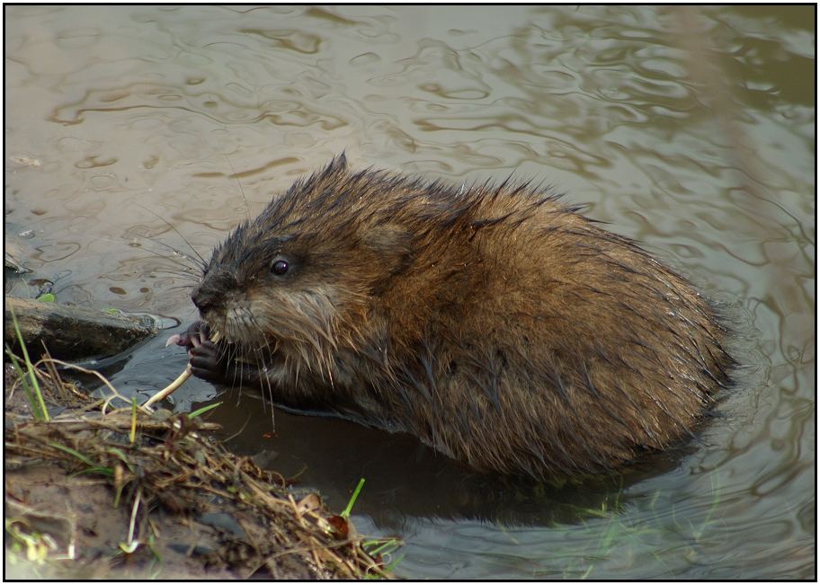
[[[383,221],[368,176],[336,158],[236,227],[192,294],[211,328],[314,365],[356,343],[410,245],[406,229]]]

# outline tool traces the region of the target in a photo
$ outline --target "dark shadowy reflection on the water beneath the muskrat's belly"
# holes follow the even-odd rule
[[[646,477],[673,470],[693,446],[647,457],[627,474],[584,483],[545,484],[526,478],[478,474],[404,433],[389,434],[360,424],[283,412],[259,396],[224,391],[209,417],[224,430],[232,451],[257,457],[259,465],[298,475],[299,483],[322,486],[326,503],[342,510],[360,477],[367,490],[356,512],[387,532],[408,519],[480,520],[504,527],[548,527],[616,514],[624,493]],[[192,409],[208,403],[194,403]],[[343,438],[341,440],[340,438]]]

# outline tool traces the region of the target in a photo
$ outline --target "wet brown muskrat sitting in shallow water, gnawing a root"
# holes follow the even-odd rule
[[[341,155],[216,248],[180,343],[197,377],[477,470],[609,471],[691,435],[732,359],[686,279],[579,209]]]

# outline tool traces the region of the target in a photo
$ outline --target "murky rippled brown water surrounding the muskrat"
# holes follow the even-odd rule
[[[228,398],[233,448],[304,469],[332,507],[367,479],[357,527],[406,540],[399,574],[815,575],[813,6],[5,11],[6,228],[33,230],[59,300],[190,322],[183,261],[157,243],[205,253],[345,149],[545,178],[729,307],[742,387],[700,443],[618,485],[499,482],[281,412],[266,439],[270,410]],[[113,376],[153,390],[183,364],[156,340]],[[194,381],[180,407],[212,394]]]

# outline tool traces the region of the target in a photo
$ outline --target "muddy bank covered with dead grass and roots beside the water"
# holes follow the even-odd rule
[[[90,399],[43,367],[49,420],[38,421],[12,369],[4,372],[10,577],[388,577],[384,553],[396,541],[366,541],[315,492],[228,453],[209,439],[218,425],[207,412],[122,408],[113,394]]]

